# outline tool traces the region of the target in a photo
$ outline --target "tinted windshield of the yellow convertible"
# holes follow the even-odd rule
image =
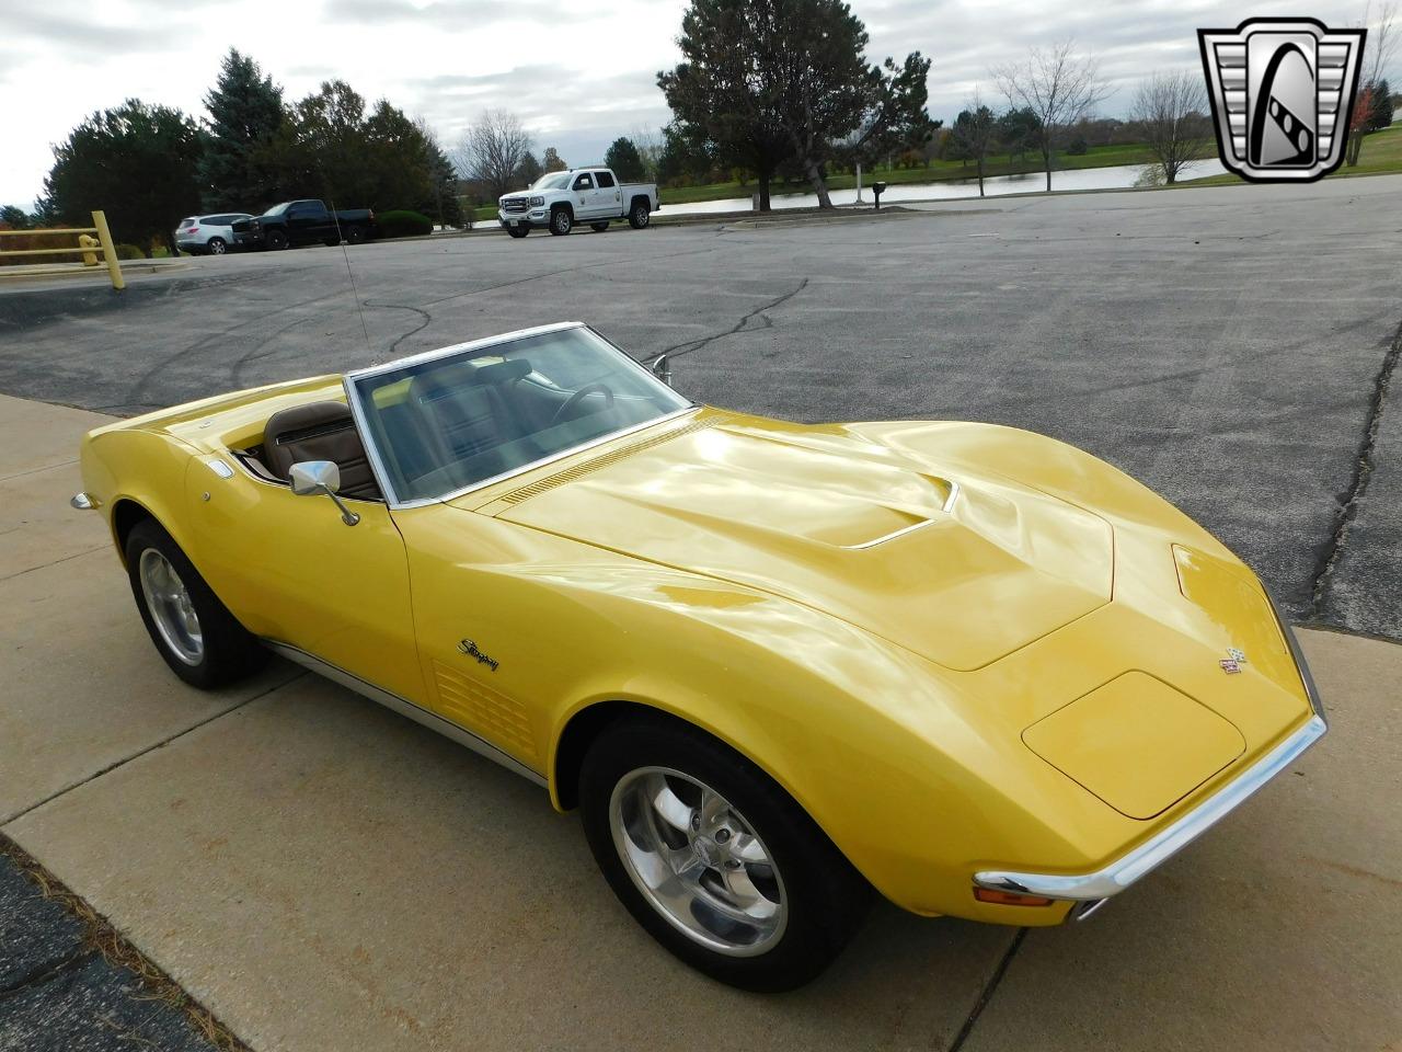
[[[352,386],[401,502],[443,498],[691,404],[583,327],[407,363]]]

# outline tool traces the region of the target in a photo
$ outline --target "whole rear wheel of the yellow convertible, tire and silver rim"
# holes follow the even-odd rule
[[[126,571],[146,631],[171,670],[210,690],[257,672],[268,652],[154,519],[126,537]]]

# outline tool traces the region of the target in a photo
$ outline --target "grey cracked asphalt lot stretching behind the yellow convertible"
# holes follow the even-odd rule
[[[1123,467],[1300,621],[1402,638],[1402,177],[311,247],[0,295],[0,391],[112,414],[558,320],[712,404]],[[1387,457],[1391,449],[1394,456]]]

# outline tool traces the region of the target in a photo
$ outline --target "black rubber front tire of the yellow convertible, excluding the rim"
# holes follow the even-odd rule
[[[705,945],[676,927],[634,882],[614,844],[610,805],[615,787],[641,767],[666,767],[704,783],[763,840],[788,910],[768,950],[737,957]],[[730,986],[778,992],[812,980],[843,950],[871,905],[871,885],[773,778],[680,721],[629,721],[601,734],[580,769],[579,802],[594,860],[634,919],[677,958]]]

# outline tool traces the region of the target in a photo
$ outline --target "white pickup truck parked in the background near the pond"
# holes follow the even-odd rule
[[[530,189],[499,196],[496,219],[512,237],[540,227],[568,234],[575,223],[607,230],[614,219],[642,230],[660,208],[656,182],[618,182],[611,168],[571,168],[545,173]]]

